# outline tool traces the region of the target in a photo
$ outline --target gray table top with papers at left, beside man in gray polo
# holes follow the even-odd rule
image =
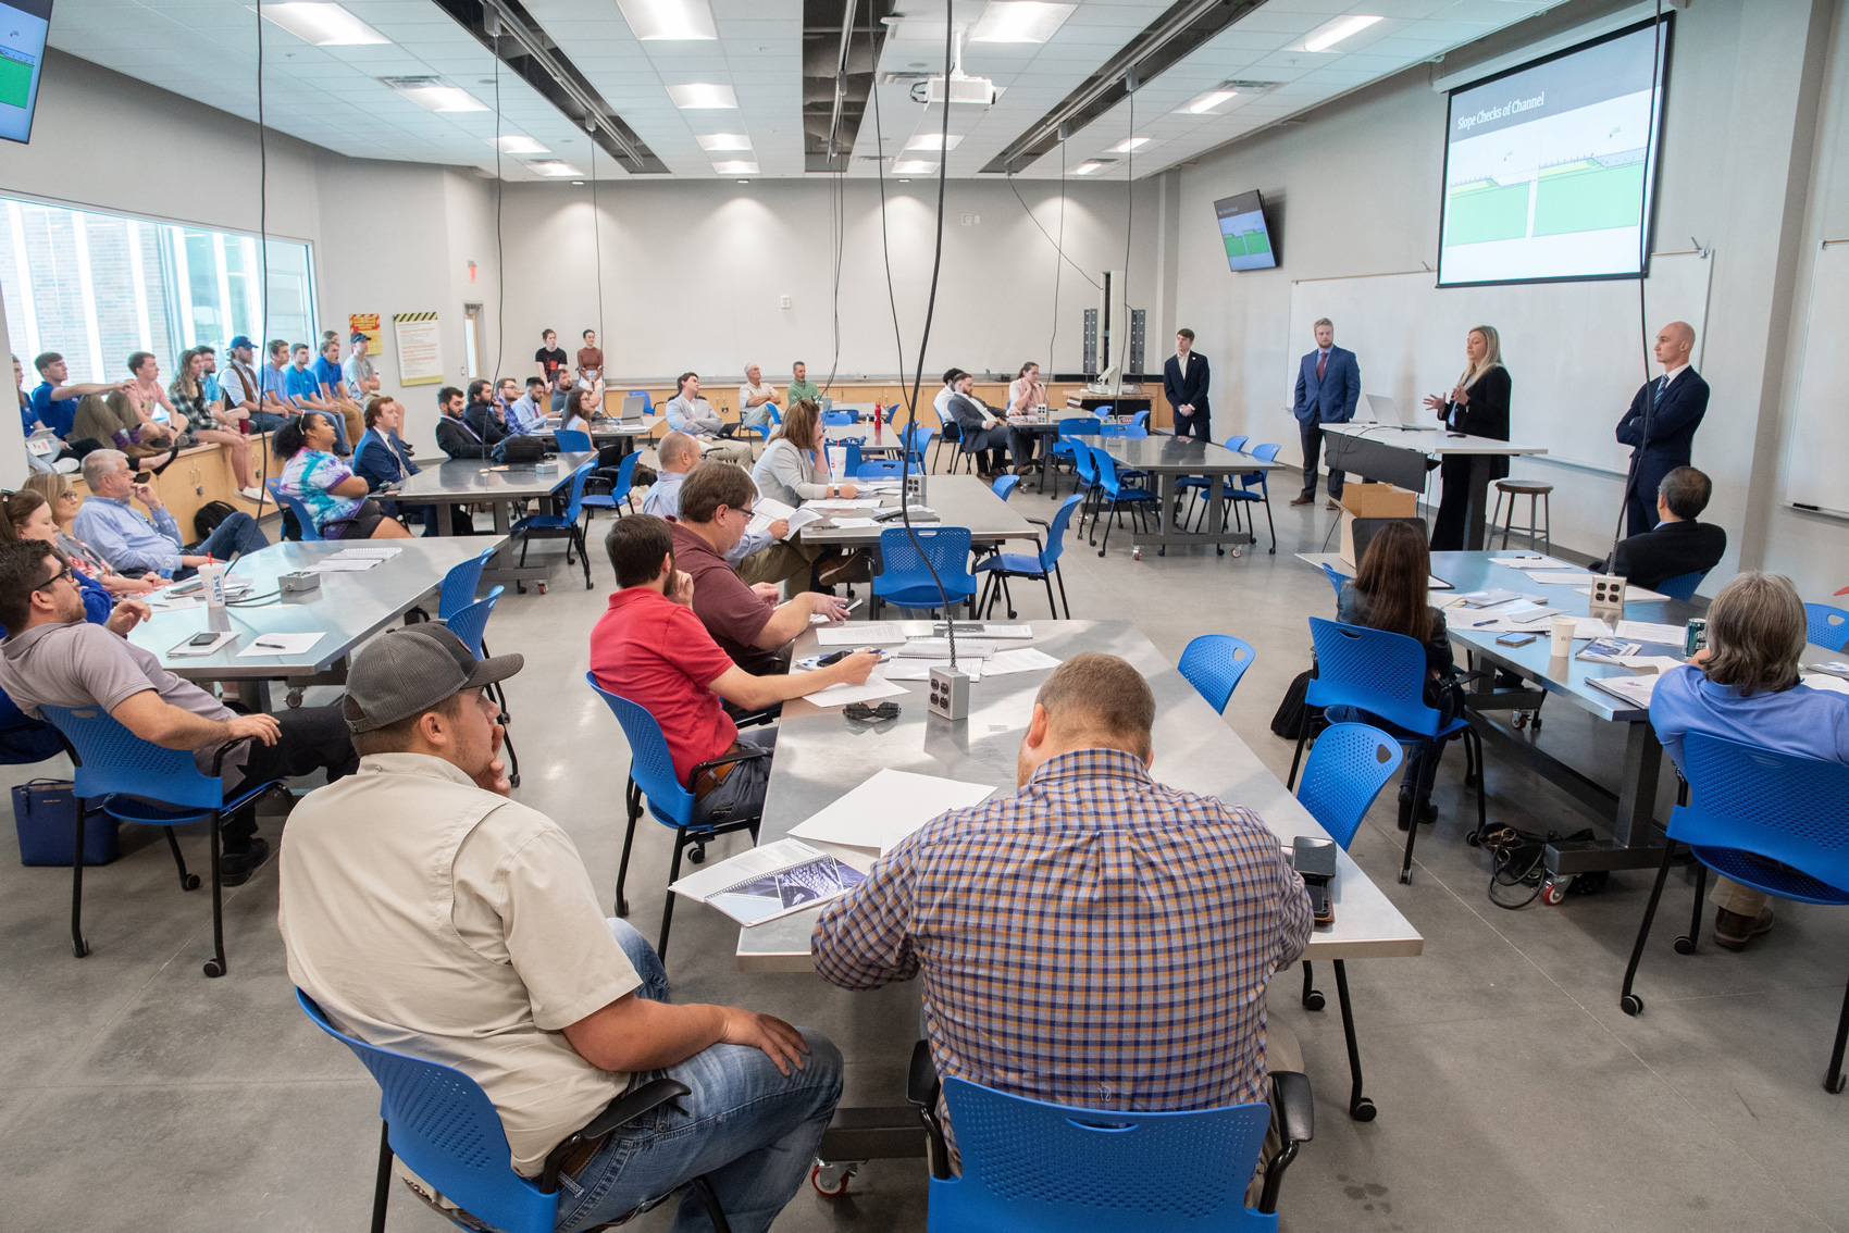
[[[507,543],[507,536],[442,536],[392,540],[403,553],[385,564],[355,573],[324,573],[322,586],[274,603],[227,606],[216,617],[202,604],[181,612],[157,612],[129,632],[129,641],[161,656],[161,665],[187,680],[283,680],[312,677],[346,658],[353,647],[405,616],[420,599],[442,586],[455,566]],[[250,579],[251,595],[276,592],[276,579],[311,566],[324,556],[353,547],[340,542],[272,543],[261,553],[240,556],[233,579]],[[237,630],[231,643],[205,656],[168,654],[192,634]],[[303,654],[264,654],[239,658],[261,634],[320,632]]]

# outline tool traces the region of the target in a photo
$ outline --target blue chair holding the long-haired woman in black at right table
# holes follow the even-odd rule
[[[1405,830],[1405,856],[1400,861],[1400,882],[1413,880],[1413,839],[1418,837],[1418,815],[1431,797],[1431,782],[1439,773],[1439,747],[1444,741],[1461,738],[1464,741],[1464,782],[1477,784],[1477,826],[1466,839],[1476,847],[1485,830],[1483,799],[1483,738],[1459,715],[1450,723],[1439,721],[1439,710],[1426,706],[1426,647],[1416,638],[1390,634],[1366,625],[1342,625],[1309,617],[1309,638],[1316,645],[1316,675],[1309,678],[1304,691],[1304,704],[1322,710],[1326,706],[1355,706],[1376,715],[1396,741],[1402,745],[1429,745],[1433,756],[1426,760],[1426,773],[1413,786],[1413,799],[1400,810],[1400,824]],[[1296,784],[1296,769],[1304,760],[1304,743],[1309,739],[1309,725],[1296,738],[1296,756],[1291,760],[1291,784]]]

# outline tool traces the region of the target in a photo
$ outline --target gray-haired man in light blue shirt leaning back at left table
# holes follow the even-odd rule
[[[83,458],[83,482],[92,495],[78,510],[72,531],[116,573],[131,579],[144,573],[185,579],[213,558],[229,560],[233,553],[270,547],[257,519],[237,512],[218,523],[202,543],[187,549],[179,538],[179,523],[161,503],[161,494],[152,484],[135,482],[135,471],[120,449],[91,451]],[[153,523],[135,512],[128,503],[129,497],[148,507]]]

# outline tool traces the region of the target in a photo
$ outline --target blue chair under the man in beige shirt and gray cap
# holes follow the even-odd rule
[[[649,1080],[610,1102],[584,1129],[568,1135],[545,1157],[536,1179],[514,1172],[507,1129],[494,1102],[462,1070],[438,1061],[366,1044],[331,1022],[314,998],[296,989],[296,1006],[309,1020],[353,1050],[379,1083],[379,1174],[372,1187],[372,1231],[385,1233],[386,1200],[392,1194],[392,1155],[405,1157],[410,1172],[436,1187],[446,1200],[503,1233],[553,1233],[558,1224],[558,1166],[581,1142],[614,1129],[690,1094],[677,1080]],[[701,1192],[714,1229],[725,1231],[719,1196],[704,1176],[688,1185]],[[666,1198],[666,1196],[664,1196]]]

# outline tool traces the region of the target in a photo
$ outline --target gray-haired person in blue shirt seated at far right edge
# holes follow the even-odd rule
[[[1703,732],[1781,754],[1849,762],[1849,695],[1799,680],[1805,603],[1782,573],[1742,573],[1708,604],[1708,645],[1671,667],[1649,699],[1649,723],[1677,767],[1683,738]],[[1714,885],[1714,941],[1740,950],[1771,928],[1758,891]]]

